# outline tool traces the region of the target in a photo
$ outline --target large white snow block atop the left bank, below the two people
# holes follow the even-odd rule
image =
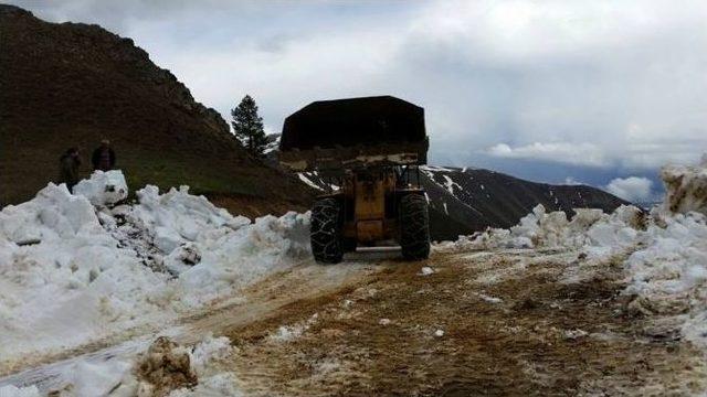
[[[74,194],[82,195],[95,206],[110,206],[127,198],[128,185],[120,170],[94,171],[91,178],[74,186]]]

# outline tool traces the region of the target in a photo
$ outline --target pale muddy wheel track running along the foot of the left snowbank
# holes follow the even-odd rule
[[[103,362],[116,357],[131,357],[147,348],[158,335],[168,335],[181,344],[193,344],[207,334],[221,334],[223,330],[276,315],[279,308],[299,299],[326,294],[340,285],[356,282],[366,275],[378,271],[374,265],[349,262],[321,267],[300,264],[286,271],[271,275],[231,297],[170,324],[155,324],[154,329],[140,328],[94,341],[70,351],[46,355],[32,355],[14,363],[0,377],[0,386],[36,385],[40,390],[62,388],[71,366],[78,361]]]

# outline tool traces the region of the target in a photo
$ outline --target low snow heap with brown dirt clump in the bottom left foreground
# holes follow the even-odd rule
[[[228,337],[209,335],[186,346],[160,336],[128,355],[84,356],[44,393],[36,386],[4,386],[0,397],[238,396],[238,378],[224,369],[236,352]]]

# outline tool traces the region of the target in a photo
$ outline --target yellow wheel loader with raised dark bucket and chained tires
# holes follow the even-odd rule
[[[279,163],[328,185],[312,207],[312,251],[337,264],[357,247],[400,245],[430,255],[424,109],[391,96],[321,100],[285,119]]]

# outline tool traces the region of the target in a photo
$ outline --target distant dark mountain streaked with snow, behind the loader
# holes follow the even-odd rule
[[[510,227],[542,204],[548,211],[600,208],[611,212],[627,202],[587,185],[551,185],[483,169],[422,167],[421,183],[430,201],[430,228],[435,240],[456,239],[486,227]],[[316,172],[299,180],[320,191],[327,181]],[[334,186],[336,187],[336,186]]]

